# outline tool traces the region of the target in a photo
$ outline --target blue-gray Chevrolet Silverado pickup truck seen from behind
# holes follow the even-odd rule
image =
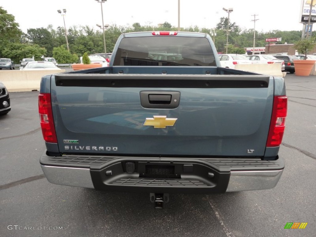
[[[168,193],[270,189],[287,97],[282,77],[220,67],[208,34],[122,34],[109,67],[44,76],[39,95],[49,182]]]

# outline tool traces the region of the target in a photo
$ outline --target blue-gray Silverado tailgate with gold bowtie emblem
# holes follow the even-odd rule
[[[59,151],[263,156],[273,90],[263,75],[58,74]]]

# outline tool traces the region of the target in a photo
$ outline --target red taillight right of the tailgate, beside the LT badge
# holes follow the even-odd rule
[[[286,96],[274,96],[267,147],[277,147],[282,143],[287,104],[288,98]]]

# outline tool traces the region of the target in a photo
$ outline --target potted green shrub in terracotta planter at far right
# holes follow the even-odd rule
[[[304,53],[307,58],[307,52],[315,47],[315,42],[311,38],[295,42],[294,48],[299,53]],[[293,60],[296,76],[309,76],[316,60]]]

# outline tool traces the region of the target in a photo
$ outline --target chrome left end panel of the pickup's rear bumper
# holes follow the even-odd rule
[[[94,188],[90,169],[41,165],[46,179],[52,184]]]

